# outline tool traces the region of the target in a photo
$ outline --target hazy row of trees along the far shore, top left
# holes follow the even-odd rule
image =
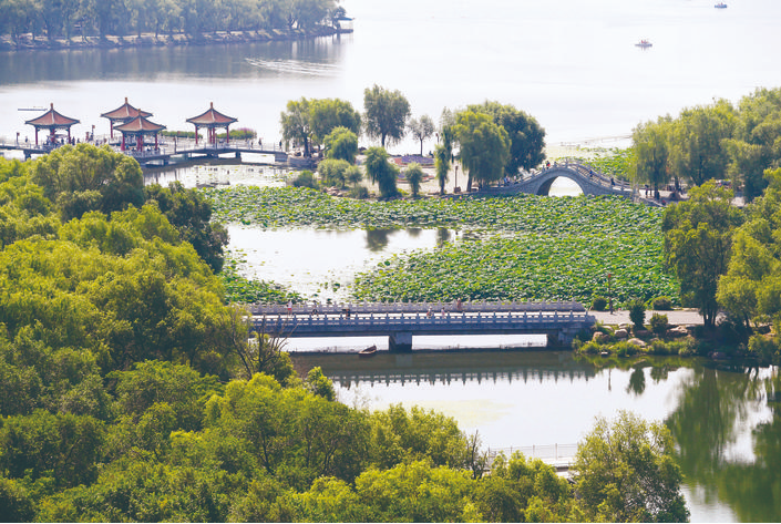
[[[92,37],[106,44],[112,38],[122,40],[135,35],[141,39],[145,33],[154,34],[154,39],[141,44],[158,42],[160,34],[181,34],[187,42],[207,42],[209,35],[218,31],[228,34],[253,31],[255,38],[261,38],[263,32],[263,38],[270,40],[289,38],[290,31],[299,31],[301,35],[320,34],[326,28],[333,32],[343,16],[345,9],[335,0],[0,0],[0,34],[9,35],[17,48],[34,48],[37,39],[50,45],[63,40],[65,45],[79,47]],[[28,33],[29,42],[23,38]],[[74,43],[71,42],[73,37],[79,37]]]

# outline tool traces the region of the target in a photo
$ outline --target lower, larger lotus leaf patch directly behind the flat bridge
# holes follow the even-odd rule
[[[661,243],[634,237],[524,235],[445,245],[432,253],[394,256],[356,278],[359,299],[578,300],[607,295],[650,298],[670,292]]]

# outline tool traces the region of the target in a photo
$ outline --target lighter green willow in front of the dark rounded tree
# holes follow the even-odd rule
[[[472,181],[482,185],[501,179],[510,157],[507,132],[489,115],[469,110],[460,112],[455,122],[461,164],[469,172],[466,191],[472,191]]]

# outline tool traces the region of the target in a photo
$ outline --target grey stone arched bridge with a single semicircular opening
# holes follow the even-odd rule
[[[531,193],[533,195],[547,195],[551,191],[551,185],[556,178],[568,178],[573,181],[578,185],[584,195],[634,196],[631,186],[626,182],[620,182],[598,173],[588,164],[580,162],[552,164],[539,172],[525,175],[522,181],[499,187],[485,187],[481,193],[506,195]]]

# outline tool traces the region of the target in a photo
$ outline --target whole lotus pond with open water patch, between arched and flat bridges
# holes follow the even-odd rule
[[[309,279],[342,299],[589,302],[594,295],[608,294],[608,273],[609,291],[617,300],[677,295],[677,281],[662,265],[661,210],[624,198],[518,195],[369,202],[306,188],[203,191],[214,203],[215,219],[232,224],[229,248],[263,251],[247,257],[238,273],[264,280],[270,277],[304,298],[325,297],[320,289],[312,292],[311,286],[301,287]],[[371,247],[377,237],[371,232],[410,227],[431,230],[423,235],[430,242],[407,237],[410,240],[395,248]],[[436,228],[455,233],[450,239],[438,238]],[[301,233],[318,230],[327,237],[322,243]],[[286,268],[294,263],[282,261],[282,270],[271,270],[275,257],[282,257],[280,251],[286,249],[278,243],[296,246],[298,268]],[[368,248],[372,257],[358,253],[359,248]],[[333,257],[327,251],[339,253],[339,260],[329,263]],[[350,258],[360,260],[346,263]],[[325,267],[329,264],[335,267]],[[325,275],[329,271],[337,275]],[[309,277],[310,273],[317,276]],[[240,291],[245,286],[236,285],[237,271],[232,275],[234,289]],[[268,299],[284,296],[276,292]],[[260,296],[242,298],[238,292],[232,298],[258,300]]]

